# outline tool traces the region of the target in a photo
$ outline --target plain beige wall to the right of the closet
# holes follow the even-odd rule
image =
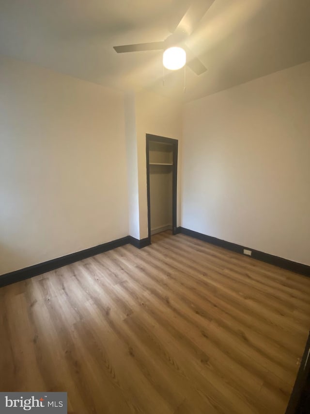
[[[310,265],[310,63],[188,103],[182,226]]]

